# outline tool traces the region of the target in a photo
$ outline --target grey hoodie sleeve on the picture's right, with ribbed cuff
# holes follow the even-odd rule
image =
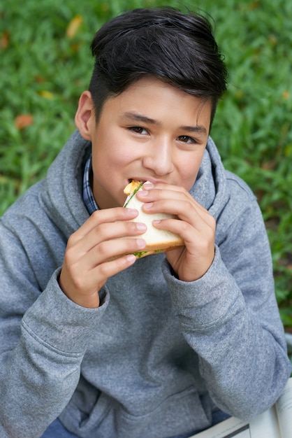
[[[270,246],[261,211],[250,198],[238,211],[229,206],[228,220],[220,218],[225,232],[202,278],[184,283],[171,275],[167,262],[163,266],[207,390],[220,409],[242,419],[270,408],[291,372]]]

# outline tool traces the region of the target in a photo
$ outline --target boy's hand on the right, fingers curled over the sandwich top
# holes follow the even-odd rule
[[[180,234],[184,239],[184,247],[166,253],[168,262],[180,280],[198,280],[214,259],[216,221],[184,188],[167,184],[150,187],[145,185],[145,190],[137,194],[145,203],[143,210],[176,215],[178,219],[154,221],[153,225]]]

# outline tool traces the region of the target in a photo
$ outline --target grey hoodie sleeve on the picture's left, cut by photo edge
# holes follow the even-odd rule
[[[70,400],[108,295],[98,309],[78,306],[59,288],[60,269],[41,292],[17,238],[0,230],[0,436],[36,438]]]

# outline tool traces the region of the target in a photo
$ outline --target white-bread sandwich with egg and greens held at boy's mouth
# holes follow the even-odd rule
[[[152,225],[152,220],[175,218],[176,216],[168,213],[144,213],[142,210],[143,202],[137,199],[136,194],[142,188],[143,184],[144,182],[141,181],[131,181],[131,183],[124,188],[124,194],[127,195],[124,207],[138,210],[139,215],[134,221],[143,222],[147,225],[147,231],[141,235],[147,245],[143,251],[134,254],[136,257],[145,257],[146,255],[163,253],[178,246],[184,246],[184,241],[178,234],[165,229],[155,228]]]

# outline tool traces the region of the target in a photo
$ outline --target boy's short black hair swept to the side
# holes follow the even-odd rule
[[[122,93],[145,75],[202,99],[217,102],[226,90],[227,71],[210,22],[175,8],[138,8],[99,29],[92,41],[95,57],[89,85],[96,120],[108,97]]]

